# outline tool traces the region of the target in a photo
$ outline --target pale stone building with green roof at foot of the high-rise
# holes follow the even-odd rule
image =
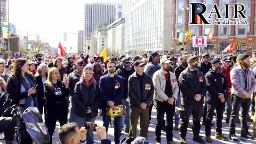
[[[94,28],[93,36],[90,39],[90,54],[100,54],[107,47],[107,37],[107,21],[101,20]]]

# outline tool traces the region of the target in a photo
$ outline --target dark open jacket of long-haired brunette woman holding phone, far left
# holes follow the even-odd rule
[[[28,97],[28,92],[20,92],[20,89],[20,79],[14,75],[9,76],[6,83],[6,91],[8,94],[10,94],[10,99],[13,100],[13,103],[15,105],[19,105],[21,99],[25,99]],[[34,96],[36,96],[36,94],[33,94],[33,97]]]

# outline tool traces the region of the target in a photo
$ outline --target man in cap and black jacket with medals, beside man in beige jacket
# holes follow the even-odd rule
[[[149,75],[144,73],[145,63],[134,62],[135,72],[128,79],[130,100],[129,137],[136,138],[138,120],[140,118],[140,137],[148,138],[149,103],[153,100],[154,85]]]

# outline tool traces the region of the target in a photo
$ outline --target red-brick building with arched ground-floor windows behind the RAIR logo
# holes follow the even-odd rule
[[[220,14],[225,14],[225,5],[230,4],[228,13],[229,18],[231,18],[231,13],[234,13],[234,9],[231,9],[232,4],[243,4],[245,6],[244,14],[247,17],[246,21],[248,25],[189,25],[191,21],[191,17],[189,17],[191,12],[191,5],[189,3],[204,3],[207,7],[207,11],[205,15],[210,15],[212,6],[214,4],[218,5],[218,9],[220,10]],[[191,33],[194,36],[207,36],[210,30],[213,33],[213,40],[207,39],[207,47],[201,47],[201,53],[216,53],[221,54],[221,52],[231,43],[234,43],[234,50],[236,53],[249,53],[252,54],[256,52],[256,5],[255,1],[249,0],[172,0],[171,1],[171,52],[176,55],[181,54],[182,44],[179,43],[179,31],[182,31],[183,28],[183,11],[181,9],[182,5],[188,6],[189,10],[185,13],[185,31],[188,29],[191,30]],[[214,14],[213,14],[214,15]],[[216,17],[208,18],[207,21],[217,20]],[[230,19],[234,20],[234,19]],[[198,47],[193,47],[192,45],[192,37],[185,44],[185,53],[193,53],[194,51],[199,52]]]

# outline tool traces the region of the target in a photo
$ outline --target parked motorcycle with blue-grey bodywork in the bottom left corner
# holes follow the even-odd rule
[[[5,111],[1,116],[12,116],[17,122],[14,144],[46,144],[50,142],[46,124],[36,107],[27,108],[22,116],[20,116],[18,106],[10,106],[8,103],[12,103],[12,100],[6,95],[4,102]]]

